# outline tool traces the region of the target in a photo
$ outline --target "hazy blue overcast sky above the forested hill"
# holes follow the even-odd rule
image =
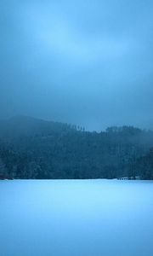
[[[153,2],[0,3],[0,118],[153,128]]]

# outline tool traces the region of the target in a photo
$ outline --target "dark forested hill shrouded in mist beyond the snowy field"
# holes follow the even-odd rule
[[[153,131],[133,126],[84,131],[15,117],[0,121],[0,178],[153,179]]]

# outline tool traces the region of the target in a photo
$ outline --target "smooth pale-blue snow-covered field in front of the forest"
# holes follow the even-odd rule
[[[152,256],[153,182],[0,181],[0,256]]]

